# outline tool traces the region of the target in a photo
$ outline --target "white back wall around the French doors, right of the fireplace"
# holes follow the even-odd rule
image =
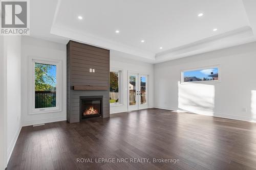
[[[123,105],[111,106],[111,113],[127,111],[127,89],[129,89],[129,87],[127,88],[128,71],[148,75],[148,108],[152,108],[154,106],[154,65],[139,60],[131,60],[127,57],[131,57],[131,55],[113,50],[110,53],[110,68],[122,69],[123,71]],[[132,57],[136,58],[136,56]]]

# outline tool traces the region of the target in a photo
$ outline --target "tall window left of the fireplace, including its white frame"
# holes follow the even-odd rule
[[[61,111],[61,61],[32,59],[31,114]]]

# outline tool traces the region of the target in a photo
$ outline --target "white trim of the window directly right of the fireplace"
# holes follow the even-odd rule
[[[123,69],[111,68],[110,72],[118,72],[118,103],[110,103],[110,106],[123,106]]]

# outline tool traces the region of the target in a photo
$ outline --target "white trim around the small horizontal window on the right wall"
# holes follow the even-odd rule
[[[182,69],[181,70],[181,81],[180,84],[194,84],[194,83],[220,83],[221,82],[221,66],[220,65],[211,65],[211,66],[202,66],[197,68],[190,69]],[[209,80],[209,81],[194,81],[194,82],[184,82],[184,72],[185,71],[194,71],[200,69],[210,69],[210,68],[218,68],[218,80]]]

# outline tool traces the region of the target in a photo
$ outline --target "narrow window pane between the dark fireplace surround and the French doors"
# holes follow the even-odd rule
[[[121,104],[121,70],[110,71],[110,104]]]

